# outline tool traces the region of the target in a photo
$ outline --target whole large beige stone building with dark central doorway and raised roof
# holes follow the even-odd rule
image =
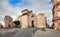
[[[16,21],[20,21],[21,28],[28,28],[28,27],[46,27],[46,19],[45,14],[40,13],[38,15],[33,14],[32,11],[25,9],[22,12]]]

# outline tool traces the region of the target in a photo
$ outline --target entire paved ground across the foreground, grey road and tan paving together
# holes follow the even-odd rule
[[[46,29],[46,31],[41,31],[37,28],[0,29],[0,37],[60,37],[60,30]]]

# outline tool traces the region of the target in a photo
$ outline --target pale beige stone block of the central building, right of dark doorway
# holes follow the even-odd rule
[[[37,28],[46,27],[46,17],[44,13],[37,15]]]

